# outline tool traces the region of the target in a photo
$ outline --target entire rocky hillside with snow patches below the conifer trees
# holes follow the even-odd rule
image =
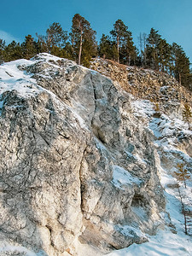
[[[91,68],[49,54],[0,66],[1,255],[171,255],[167,237],[190,255],[173,177],[180,162],[192,171],[189,91],[149,70]]]

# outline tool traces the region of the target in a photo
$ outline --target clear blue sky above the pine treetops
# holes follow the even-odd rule
[[[69,31],[73,15],[79,13],[97,32],[109,34],[121,19],[133,33],[159,30],[168,43],[180,44],[192,62],[192,0],[0,0],[0,38],[23,42],[27,34],[44,34],[59,22]]]

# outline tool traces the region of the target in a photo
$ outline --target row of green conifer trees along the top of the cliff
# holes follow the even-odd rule
[[[179,84],[192,90],[189,57],[182,46],[168,44],[153,27],[148,34],[139,34],[136,46],[132,32],[123,20],[116,20],[112,27],[108,35],[102,34],[100,41],[96,42],[96,31],[91,28],[90,22],[76,14],[70,32],[65,31],[60,23],[54,22],[44,35],[36,33],[35,38],[26,35],[21,44],[15,41],[6,44],[0,38],[0,64],[20,58],[31,59],[38,53],[47,52],[89,67],[91,58],[101,57],[128,66],[168,73]]]

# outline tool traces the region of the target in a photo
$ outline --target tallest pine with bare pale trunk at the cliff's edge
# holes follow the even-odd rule
[[[90,59],[96,56],[96,32],[90,27],[90,22],[79,14],[73,16],[72,32],[73,57],[78,64],[88,67]]]

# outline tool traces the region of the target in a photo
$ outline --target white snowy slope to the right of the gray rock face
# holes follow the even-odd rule
[[[153,118],[153,104],[148,101],[133,102],[132,108],[135,115],[148,119],[148,129],[154,135],[154,146],[157,148],[160,157],[165,152],[167,157],[179,162],[180,158],[191,164],[192,160],[186,152],[177,148],[177,140],[174,134],[181,132],[183,135],[192,135],[192,131],[188,130],[188,125],[180,119],[170,119],[162,114],[160,119]],[[163,153],[162,153],[163,152]],[[177,158],[178,156],[178,158]],[[181,157],[180,157],[181,156]],[[180,158],[179,158],[180,157]],[[175,163],[176,166],[177,163]],[[177,180],[172,176],[175,171],[167,166],[159,166],[160,182],[165,189],[166,211],[169,212],[172,224],[177,230],[177,234],[172,233],[172,228],[166,226],[165,230],[160,230],[156,236],[148,236],[148,242],[141,245],[133,244],[130,247],[113,251],[108,256],[191,256],[192,255],[192,236],[184,234],[184,219],[182,214],[182,206],[179,200],[177,189]],[[181,193],[183,194],[183,202],[192,212],[192,178],[187,182],[187,189],[184,189],[183,183],[180,183]],[[189,217],[192,219],[192,216]],[[192,223],[191,223],[192,224]],[[192,226],[189,233],[192,233]],[[191,234],[192,235],[192,234]]]

